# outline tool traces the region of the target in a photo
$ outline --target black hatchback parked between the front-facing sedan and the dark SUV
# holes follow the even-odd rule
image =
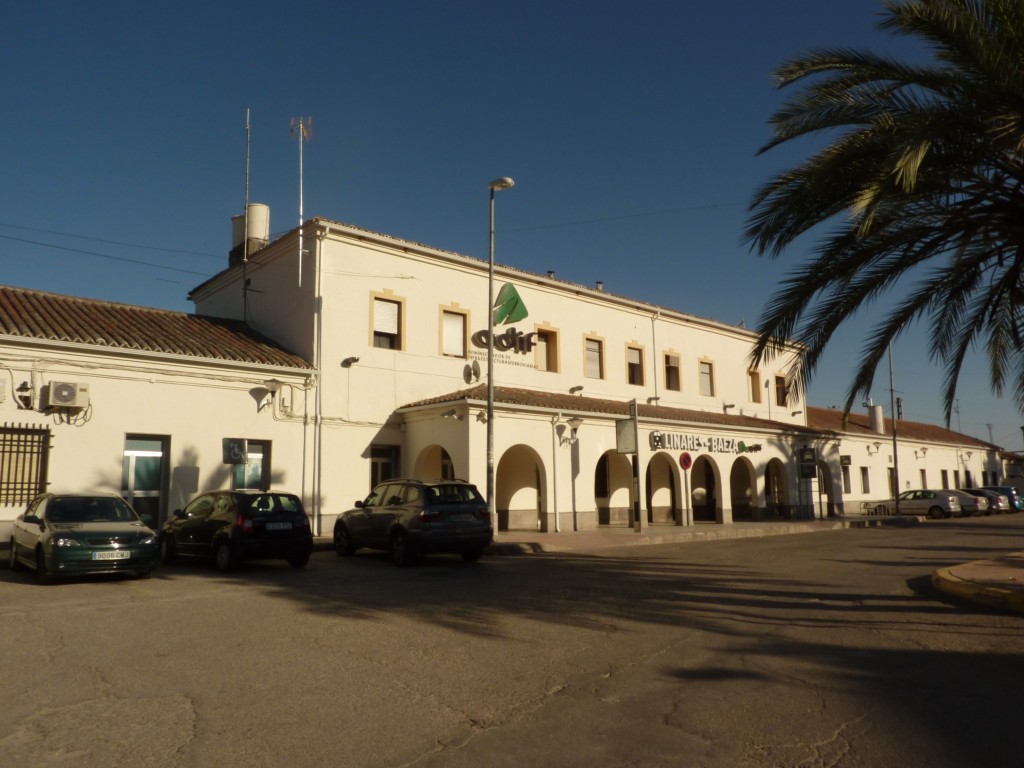
[[[210,558],[222,571],[243,560],[282,558],[293,568],[313,549],[309,518],[294,494],[276,490],[212,490],[178,509],[160,531],[160,558]]]

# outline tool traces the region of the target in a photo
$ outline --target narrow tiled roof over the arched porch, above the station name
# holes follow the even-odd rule
[[[462,389],[457,392],[442,394],[438,397],[411,402],[403,408],[415,409],[423,406],[440,406],[469,400],[483,402],[486,398],[486,384],[477,384],[470,389]],[[495,387],[495,402],[510,406],[525,406],[527,408],[546,408],[562,413],[608,414],[609,416],[623,417],[630,415],[630,403],[625,400],[606,400],[598,397],[541,392],[534,389],[517,389],[515,387]],[[767,419],[757,419],[753,416],[732,416],[713,411],[691,411],[689,409],[669,408],[667,406],[651,406],[645,402],[639,403],[638,413],[645,419],[665,419],[688,424],[714,424],[737,429],[777,429],[804,433],[816,433],[820,431],[809,429],[801,424],[785,424]]]

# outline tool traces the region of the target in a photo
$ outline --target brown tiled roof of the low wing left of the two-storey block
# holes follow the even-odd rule
[[[311,368],[244,323],[0,286],[0,337]]]

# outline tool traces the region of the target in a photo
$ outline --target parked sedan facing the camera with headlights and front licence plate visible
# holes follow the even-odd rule
[[[157,534],[115,494],[41,494],[14,519],[10,567],[42,584],[57,577],[129,572],[157,565]]]

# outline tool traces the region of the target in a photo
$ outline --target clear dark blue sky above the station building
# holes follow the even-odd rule
[[[815,46],[907,53],[877,0],[48,2],[0,9],[0,283],[190,311],[250,200],[298,221],[292,118],[311,116],[306,218],[324,216],[754,327],[780,261],[740,242],[746,205],[802,157],[755,157],[771,71]],[[806,151],[806,147],[805,147]],[[62,234],[61,234],[62,233]],[[47,245],[43,245],[47,244]],[[122,245],[129,244],[129,245]],[[810,243],[804,244],[808,249]],[[869,325],[809,390],[841,404]],[[942,370],[895,348],[905,416],[942,423]],[[888,370],[876,379],[888,414]],[[980,358],[963,431],[1020,450]],[[953,428],[957,417],[953,417]]]

